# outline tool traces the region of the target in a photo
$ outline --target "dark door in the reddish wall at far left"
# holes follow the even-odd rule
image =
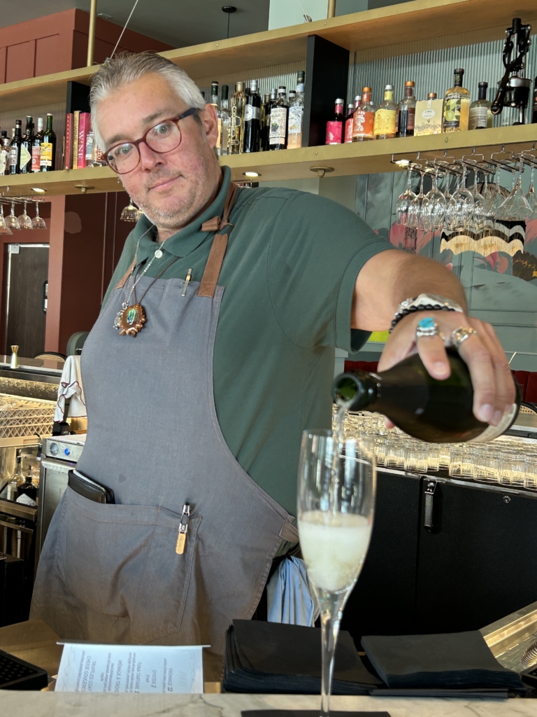
[[[44,351],[49,244],[6,244],[6,250],[4,353],[17,344],[19,356],[31,359]]]

